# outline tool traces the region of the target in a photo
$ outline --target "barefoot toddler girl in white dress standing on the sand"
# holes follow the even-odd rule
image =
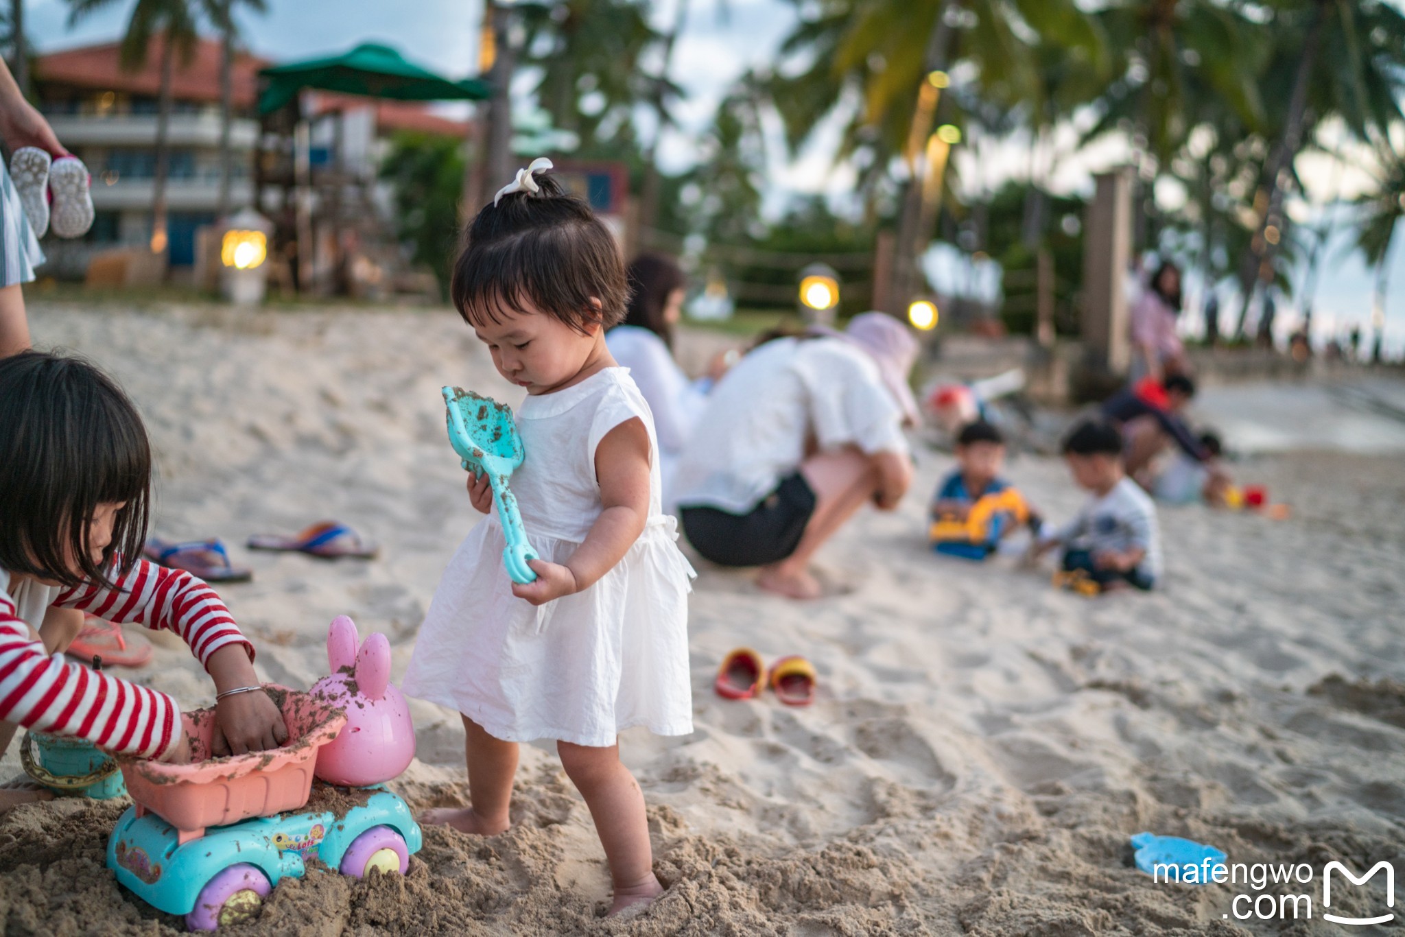
[[[469,475],[489,516],[444,570],[405,691],[458,709],[468,733],[472,805],[429,811],[429,823],[506,830],[517,743],[556,739],[606,850],[614,913],[662,891],[617,735],[693,730],[693,569],[660,507],[649,406],[604,341],[628,292],[618,249],[584,202],[534,176],[541,163],[473,219],[452,285],[497,371],[527,389],[511,486],[537,580],[507,577],[488,476]]]

